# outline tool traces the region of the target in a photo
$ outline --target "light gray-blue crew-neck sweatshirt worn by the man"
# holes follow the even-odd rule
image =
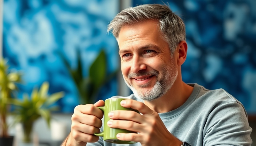
[[[189,85],[194,90],[182,106],[167,113],[159,113],[170,133],[191,146],[251,145],[252,129],[247,113],[238,100],[223,89],[207,90],[198,84]],[[143,102],[133,94],[127,98]],[[107,143],[102,137],[96,143],[87,143],[87,146],[103,145],[141,146],[140,143]]]

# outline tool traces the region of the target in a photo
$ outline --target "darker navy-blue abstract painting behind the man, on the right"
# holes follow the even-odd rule
[[[185,22],[186,83],[223,88],[256,114],[255,0],[133,0],[133,6],[167,4]]]

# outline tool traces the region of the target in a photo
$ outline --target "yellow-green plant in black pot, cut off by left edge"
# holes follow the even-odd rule
[[[12,145],[13,136],[9,136],[7,116],[9,114],[8,99],[13,98],[17,91],[17,83],[21,83],[21,73],[10,70],[7,61],[0,59],[0,145]]]

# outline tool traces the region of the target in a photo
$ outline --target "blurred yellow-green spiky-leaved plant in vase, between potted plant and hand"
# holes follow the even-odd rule
[[[15,123],[19,122],[23,126],[24,142],[31,141],[31,131],[33,129],[33,123],[42,117],[50,126],[51,111],[58,109],[53,104],[64,96],[63,92],[57,92],[48,95],[49,83],[44,82],[41,88],[38,90],[36,87],[31,93],[31,97],[28,94],[23,94],[23,100],[10,99],[10,103],[15,105],[13,113],[15,114]]]

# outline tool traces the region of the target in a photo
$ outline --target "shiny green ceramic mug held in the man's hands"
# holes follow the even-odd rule
[[[136,133],[133,131],[129,131],[126,129],[119,128],[110,128],[107,125],[107,121],[110,120],[108,113],[115,110],[132,110],[139,113],[139,111],[132,108],[124,108],[121,106],[120,102],[127,98],[121,98],[121,96],[114,96],[112,98],[105,100],[105,106],[97,107],[104,112],[104,123],[103,123],[103,131],[101,133],[95,133],[94,135],[103,137],[103,140],[109,143],[118,143],[118,144],[132,144],[136,143],[134,141],[121,141],[117,139],[116,135],[118,133]]]

